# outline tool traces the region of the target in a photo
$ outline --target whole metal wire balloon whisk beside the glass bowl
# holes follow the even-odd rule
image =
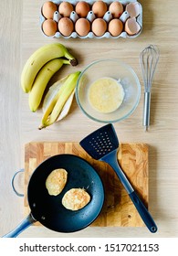
[[[152,79],[159,60],[159,50],[157,47],[150,45],[141,51],[141,71],[144,82],[144,109],[142,125],[145,131],[150,125],[150,107],[151,107],[151,88]]]

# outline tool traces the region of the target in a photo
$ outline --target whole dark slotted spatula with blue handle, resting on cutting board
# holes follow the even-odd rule
[[[127,193],[131,197],[135,208],[137,208],[141,219],[144,221],[147,228],[155,233],[157,226],[152,219],[148,209],[141,202],[141,198],[137,195],[131,183],[124,175],[117,160],[117,152],[119,148],[119,140],[114,127],[111,123],[102,126],[97,131],[90,133],[79,143],[85,151],[94,159],[108,163],[120,178],[120,182],[125,187]]]

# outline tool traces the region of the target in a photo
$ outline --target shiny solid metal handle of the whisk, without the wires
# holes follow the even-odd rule
[[[151,92],[145,91],[142,125],[145,127],[146,130],[150,125],[150,109],[151,109]]]

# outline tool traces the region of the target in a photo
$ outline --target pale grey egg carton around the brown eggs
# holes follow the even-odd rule
[[[64,1],[53,0],[53,1],[51,1],[51,2],[53,2],[53,3],[56,4],[56,5],[59,5],[60,3],[64,2]],[[68,1],[68,0],[67,0],[66,2],[69,2],[70,4],[72,4],[72,5],[75,6],[75,5],[77,5],[77,3],[78,3],[79,1],[77,1],[77,0],[70,0],[70,1]],[[89,3],[89,5],[93,5],[93,3],[96,2],[96,0],[95,0],[95,1],[94,1],[94,0],[90,0],[90,1],[89,1],[89,0],[85,0],[85,2]],[[105,2],[107,5],[110,5],[112,2],[115,2],[115,1],[108,0],[108,1],[103,1],[103,2]],[[113,36],[110,35],[110,32],[107,31],[107,32],[105,32],[104,35],[102,35],[101,37],[95,36],[95,34],[94,34],[93,32],[89,32],[89,34],[88,34],[87,36],[85,36],[85,37],[80,37],[79,34],[74,31],[74,32],[71,33],[70,36],[65,37],[65,36],[63,36],[63,35],[58,31],[58,32],[56,32],[56,34],[55,34],[54,36],[52,36],[51,38],[53,38],[53,37],[56,37],[56,38],[59,38],[59,37],[63,37],[63,38],[71,38],[71,37],[72,37],[72,38],[77,38],[77,37],[79,37],[79,38],[85,39],[85,38],[119,38],[119,37],[134,38],[134,37],[138,37],[138,36],[141,34],[141,30],[142,30],[142,6],[141,6],[141,4],[140,4],[137,0],[130,0],[130,1],[127,1],[127,0],[120,0],[120,1],[118,1],[118,2],[120,2],[120,4],[122,4],[122,5],[124,6],[124,8],[125,8],[126,5],[129,5],[130,3],[135,3],[135,2],[138,3],[139,8],[140,8],[140,14],[139,14],[138,16],[136,16],[135,18],[136,18],[136,22],[137,22],[138,25],[140,26],[140,30],[139,30],[139,32],[138,32],[137,34],[129,35],[126,31],[122,31],[119,36],[113,37]],[[42,8],[41,8],[41,9],[42,9]],[[126,20],[127,20],[129,17],[131,17],[130,14],[129,14],[129,12],[125,10],[125,11],[122,13],[122,15],[120,16],[120,20],[122,21],[123,26],[124,26]],[[69,18],[70,18],[74,23],[75,23],[75,22],[77,21],[77,19],[78,19],[78,17],[76,16],[76,13],[75,13],[75,12],[72,12],[72,13],[70,14]],[[87,18],[89,19],[89,22],[92,23],[92,21],[94,20],[95,16],[93,16],[92,12],[89,11],[89,14],[88,14]],[[105,21],[106,21],[107,23],[109,23],[109,22],[110,22],[110,19],[112,18],[110,12],[108,11],[108,12],[103,16],[103,18],[105,19]],[[55,21],[58,23],[58,20],[59,20],[59,19],[60,19],[60,15],[58,14],[58,11],[57,11],[57,12],[54,13],[53,20],[55,20]],[[42,15],[42,11],[41,11],[41,12],[40,12],[40,27],[41,27],[41,31],[42,31],[42,33],[43,33],[43,35],[44,35],[45,37],[48,37],[48,36],[43,32],[43,29],[42,29],[42,24],[43,24],[43,22],[44,22],[45,20],[46,20],[46,17]]]

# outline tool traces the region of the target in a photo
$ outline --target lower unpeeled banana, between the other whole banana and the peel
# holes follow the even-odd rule
[[[47,62],[37,73],[37,77],[29,92],[29,107],[32,112],[36,112],[43,97],[43,93],[47,87],[48,81],[60,69],[63,64],[69,64],[68,59],[52,59]]]

